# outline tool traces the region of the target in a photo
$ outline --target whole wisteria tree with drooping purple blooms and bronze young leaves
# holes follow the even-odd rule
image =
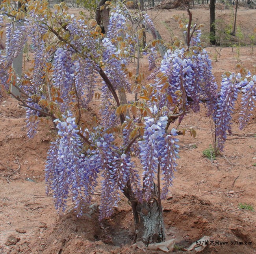
[[[190,11],[189,24],[180,20],[186,43],[156,39],[144,48],[143,26],[154,37],[154,24],[146,12],[129,11],[122,2],[105,3],[110,9],[106,34],[95,20],[69,15],[64,2],[54,10],[46,0],[21,4],[13,11],[9,1],[2,1],[6,50],[0,54],[1,92],[26,107],[29,138],[37,133],[40,117],[52,119],[56,137],[45,172],[56,209],[64,212],[71,197],[81,216],[99,186],[100,220],[112,215],[123,194],[132,206],[135,241],[163,241],[161,199],[167,197],[179,158],[177,135],[182,131],[177,126],[204,105],[215,121],[222,151],[238,93],[240,127],[249,120],[256,76],[245,70],[223,76],[218,92],[211,60],[200,42],[200,26],[192,25]],[[16,78],[12,61],[26,41],[31,43],[33,67]],[[162,59],[159,48],[166,51]],[[139,72],[139,65],[136,73],[129,70],[142,52],[148,57],[148,77]],[[11,85],[20,96],[11,93]],[[128,101],[128,93],[134,99]],[[94,98],[101,104],[88,122],[82,114]]]

